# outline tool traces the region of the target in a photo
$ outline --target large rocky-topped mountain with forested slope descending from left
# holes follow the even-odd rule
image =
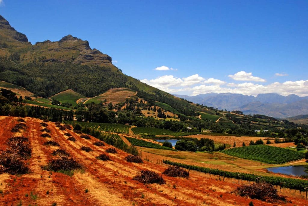
[[[129,88],[140,98],[158,100],[184,115],[197,115],[186,100],[174,97],[127,76],[111,57],[91,49],[89,42],[67,35],[59,41],[32,45],[25,34],[0,16],[0,80],[25,87],[36,96],[49,98],[71,89],[94,97],[111,88]]]

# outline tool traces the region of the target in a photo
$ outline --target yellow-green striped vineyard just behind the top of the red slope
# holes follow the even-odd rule
[[[73,124],[73,121],[67,121],[69,124]],[[115,133],[129,133],[129,125],[124,124],[112,124],[112,123],[94,123],[94,122],[78,122],[83,127],[90,127],[99,131],[115,132]]]

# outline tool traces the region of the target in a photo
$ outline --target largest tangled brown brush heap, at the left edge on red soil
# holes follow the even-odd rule
[[[29,168],[25,166],[24,160],[31,156],[32,148],[28,138],[11,137],[6,141],[8,148],[6,151],[0,151],[0,174],[9,173],[25,174]]]

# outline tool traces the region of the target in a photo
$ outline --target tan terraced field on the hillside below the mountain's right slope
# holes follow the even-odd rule
[[[104,102],[105,99],[107,100],[107,103],[112,102],[113,104],[115,103],[120,103],[124,102],[126,98],[134,96],[136,94],[135,91],[132,91],[131,89],[127,88],[115,88],[115,89],[109,89],[105,93],[93,97],[91,99],[88,99],[84,103],[100,103]]]

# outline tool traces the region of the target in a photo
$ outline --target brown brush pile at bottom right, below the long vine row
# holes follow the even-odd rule
[[[271,203],[285,200],[284,197],[278,195],[277,189],[274,188],[273,185],[265,182],[242,185],[237,188],[236,192],[240,196],[248,196],[251,199],[258,199]]]

